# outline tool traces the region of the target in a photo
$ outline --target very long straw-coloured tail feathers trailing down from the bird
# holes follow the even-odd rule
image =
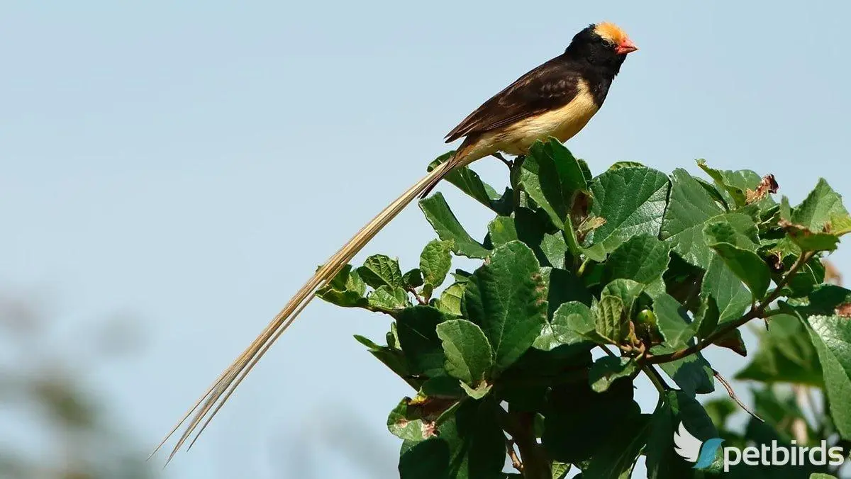
[[[458,157],[458,155],[456,155]],[[357,231],[357,234],[354,237],[351,237],[349,242],[346,242],[346,245],[340,248],[337,253],[335,253],[328,261],[321,267],[319,270],[308,280],[304,286],[302,286],[299,291],[293,296],[292,299],[289,300],[286,306],[284,306],[283,310],[275,316],[274,319],[271,320],[268,326],[257,336],[254,341],[252,341],[251,345],[248,345],[245,351],[240,354],[237,359],[231,363],[231,365],[225,369],[222,374],[220,374],[219,378],[215,380],[213,385],[210,385],[209,389],[201,396],[197,402],[192,406],[192,408],[184,414],[183,418],[180,419],[180,422],[177,425],[174,425],[174,428],[168,432],[168,435],[165,436],[163,442],[160,442],[157,445],[157,448],[154,449],[154,452],[151,453],[151,457],[157,453],[163,445],[168,442],[168,439],[174,435],[174,433],[180,429],[180,426],[186,423],[187,419],[189,420],[189,424],[186,425],[186,430],[180,435],[180,439],[177,444],[174,446],[174,449],[168,456],[168,461],[174,458],[174,454],[177,453],[181,447],[183,447],[184,443],[189,439],[194,431],[197,430],[197,434],[195,438],[190,442],[189,448],[191,448],[192,444],[197,441],[198,436],[206,429],[210,420],[214,418],[216,413],[219,412],[220,408],[227,402],[227,400],[233,394],[233,391],[237,389],[237,386],[242,383],[245,376],[251,372],[254,368],[254,365],[260,361],[260,358],[266,354],[266,351],[269,350],[271,345],[280,337],[281,334],[289,327],[290,324],[293,323],[296,316],[305,308],[305,306],[313,299],[314,295],[318,288],[321,288],[323,285],[327,284],[331,281],[340,270],[343,269],[345,265],[351,261],[354,256],[363,249],[364,246],[373,238],[376,234],[378,234],[381,229],[383,229],[391,220],[393,220],[397,214],[399,214],[408,204],[420,195],[422,191],[431,190],[431,187],[437,184],[443,176],[445,176],[458,162],[455,161],[455,158],[452,160],[442,163],[437,168],[431,170],[429,174],[427,174],[422,180],[417,181],[413,186],[408,188],[408,191],[405,191],[402,196],[398,197],[395,201],[391,202],[386,208],[384,208],[381,213],[379,213],[375,218],[360,231]],[[199,429],[200,426],[200,429]],[[150,458],[149,458],[150,459]]]

